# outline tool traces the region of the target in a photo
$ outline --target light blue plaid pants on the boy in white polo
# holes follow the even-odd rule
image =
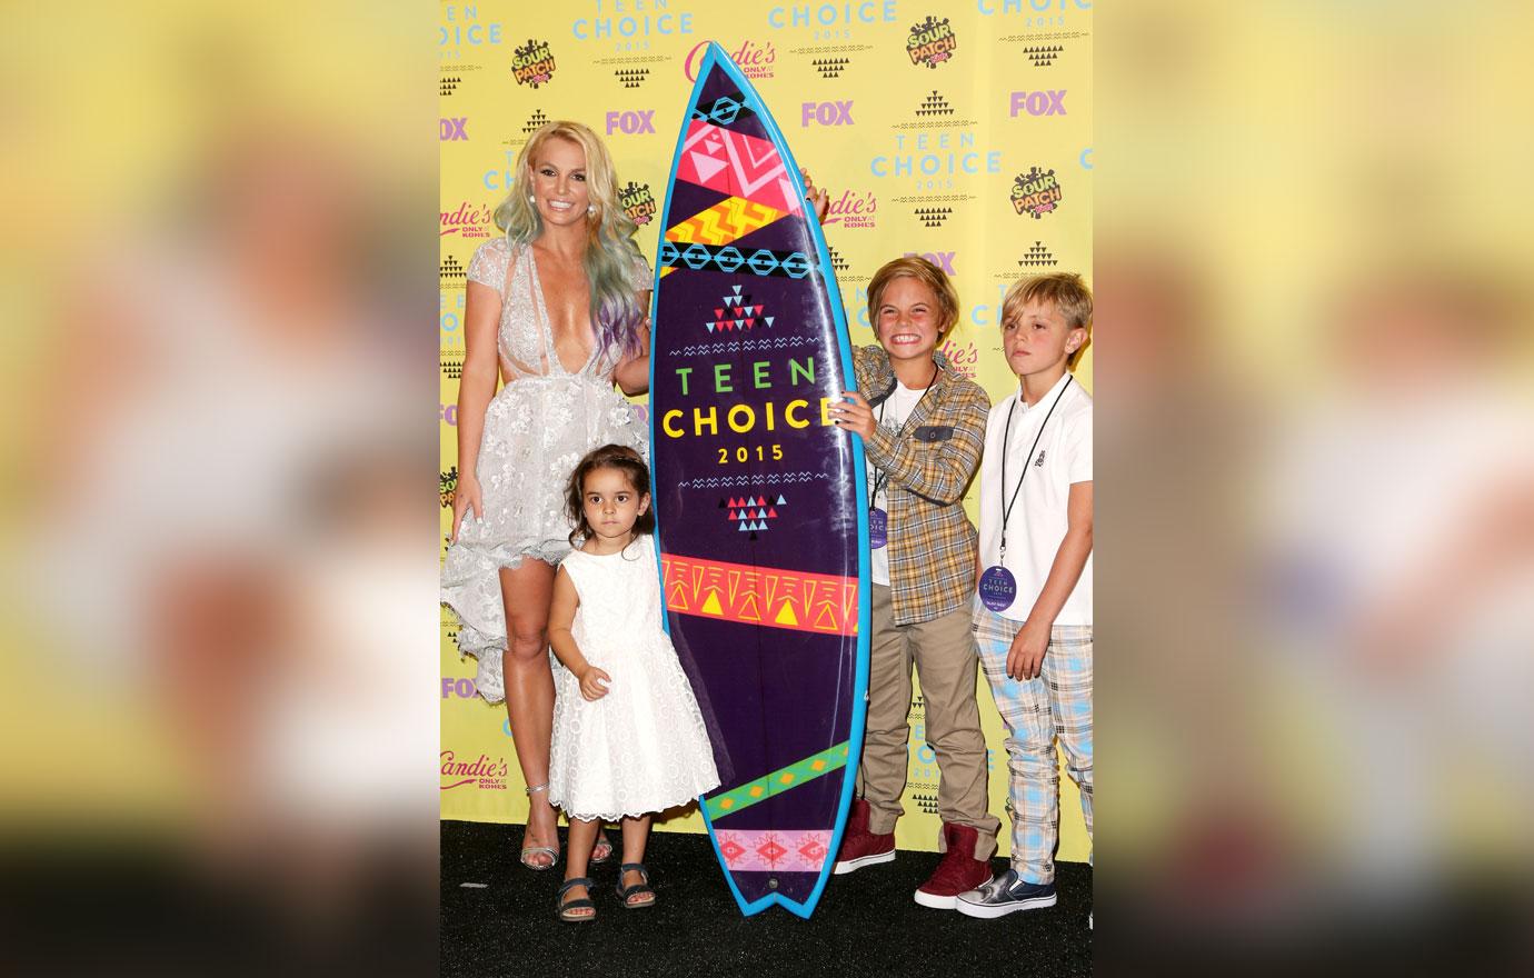
[[[1092,837],[1092,627],[1055,625],[1040,676],[1019,682],[1006,674],[1006,653],[1020,627],[976,598],[980,668],[1009,734],[1012,869],[1028,883],[1052,883],[1060,837],[1057,737],[1071,780],[1081,789],[1086,837]]]

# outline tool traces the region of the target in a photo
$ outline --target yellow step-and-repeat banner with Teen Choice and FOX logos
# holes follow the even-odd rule
[[[788,147],[830,190],[825,238],[854,343],[873,343],[867,285],[891,258],[922,254],[953,276],[960,317],[945,353],[992,400],[1016,389],[1000,354],[1006,287],[1092,264],[1092,12],[1088,0],[571,0],[443,3],[442,527],[457,474],[463,285],[497,235],[491,215],[517,153],[549,120],[603,135],[623,205],[650,264],[672,149],[707,41],[756,86]],[[1091,346],[1077,377],[1092,386]],[[646,411],[644,399],[635,409]],[[965,501],[976,518],[974,498]],[[442,817],[523,822],[528,800],[503,707],[474,691],[442,612]],[[991,808],[1009,851],[1005,730],[980,679]],[[911,704],[904,849],[936,849],[937,760]],[[1075,788],[1062,773],[1060,858],[1085,860]],[[701,832],[693,808],[658,822]]]

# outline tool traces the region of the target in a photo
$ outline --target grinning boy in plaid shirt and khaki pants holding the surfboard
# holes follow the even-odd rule
[[[862,435],[868,457],[873,581],[861,797],[836,872],[894,858],[914,664],[943,820],[943,858],[914,898],[953,909],[959,894],[991,878],[986,861],[1000,828],[986,803],[968,609],[976,532],[962,504],[980,461],[989,402],[937,353],[959,316],[959,296],[940,268],[920,258],[885,264],[868,284],[868,316],[879,346],[861,346],[853,357],[867,399],[847,392],[848,402],[830,408],[838,426]]]

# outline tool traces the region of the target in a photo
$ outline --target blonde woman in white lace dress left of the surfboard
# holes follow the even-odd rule
[[[468,270],[442,601],[459,616],[459,650],[479,659],[480,694],[506,702],[529,796],[522,863],[549,869],[558,831],[548,621],[554,570],[571,550],[563,489],[597,446],[647,455],[644,428],[614,386],[649,388],[650,270],[607,149],[578,123],[532,135],[495,224],[505,236],[480,245]],[[592,861],[611,854],[598,835]]]

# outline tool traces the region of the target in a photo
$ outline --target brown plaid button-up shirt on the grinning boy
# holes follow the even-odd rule
[[[894,624],[931,621],[968,607],[974,593],[977,535],[963,512],[963,494],[980,468],[991,400],[960,377],[940,353],[927,397],[905,422],[904,435],[876,428],[864,451],[890,481],[890,592]],[[858,388],[879,406],[894,392],[890,357],[879,346],[853,350]]]

